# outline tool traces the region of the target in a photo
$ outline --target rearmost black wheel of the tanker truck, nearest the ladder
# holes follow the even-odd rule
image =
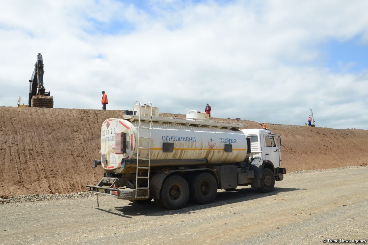
[[[160,203],[167,209],[181,209],[189,197],[187,181],[179,175],[171,175],[166,178],[160,191]]]

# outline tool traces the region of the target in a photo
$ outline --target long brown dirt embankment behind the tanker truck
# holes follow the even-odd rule
[[[81,110],[0,107],[0,197],[42,193],[70,193],[96,184],[101,167],[100,128],[106,118],[120,118],[119,110]],[[180,114],[164,116],[184,117]],[[252,121],[235,121],[259,128]],[[297,170],[367,165],[368,131],[268,124],[282,135],[282,163]]]

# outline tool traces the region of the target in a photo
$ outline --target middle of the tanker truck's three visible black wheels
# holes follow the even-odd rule
[[[197,174],[191,182],[190,195],[196,203],[207,204],[215,200],[217,182],[209,173]]]

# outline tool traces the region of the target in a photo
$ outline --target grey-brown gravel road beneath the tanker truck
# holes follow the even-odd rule
[[[275,191],[160,209],[107,196],[0,205],[0,244],[322,244],[368,238],[368,167],[287,174]],[[328,243],[328,242],[327,242]]]

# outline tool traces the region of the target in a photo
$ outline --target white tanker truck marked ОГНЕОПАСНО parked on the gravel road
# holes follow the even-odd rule
[[[189,198],[213,202],[217,189],[237,186],[273,190],[283,180],[281,137],[269,129],[209,120],[189,111],[187,118],[160,117],[151,103],[133,104],[122,118],[106,119],[101,127],[104,177],[89,192],[181,209]]]

